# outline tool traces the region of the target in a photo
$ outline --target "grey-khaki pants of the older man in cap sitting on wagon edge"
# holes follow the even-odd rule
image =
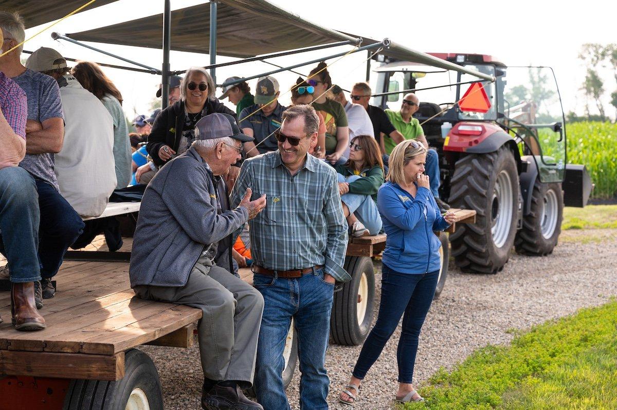
[[[143,299],[193,306],[203,311],[197,327],[204,376],[212,380],[238,380],[250,387],[255,374],[257,338],[262,321],[263,297],[251,285],[210,260],[200,258],[186,285],[138,285]]]

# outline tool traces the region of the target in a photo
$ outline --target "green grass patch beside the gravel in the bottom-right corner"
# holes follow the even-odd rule
[[[617,409],[617,301],[516,332],[420,388],[405,409]]]

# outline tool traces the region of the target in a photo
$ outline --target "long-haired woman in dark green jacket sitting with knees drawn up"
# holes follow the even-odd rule
[[[349,144],[349,161],[337,165],[343,212],[354,237],[381,231],[377,191],[384,183],[384,165],[375,138],[358,135]]]

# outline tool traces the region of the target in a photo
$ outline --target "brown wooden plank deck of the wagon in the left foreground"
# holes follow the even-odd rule
[[[97,242],[89,248],[106,248]],[[201,310],[136,298],[128,266],[65,261],[55,277],[59,292],[39,311],[47,324],[39,332],[13,329],[10,293],[0,292],[0,374],[118,380],[129,348],[191,345]]]

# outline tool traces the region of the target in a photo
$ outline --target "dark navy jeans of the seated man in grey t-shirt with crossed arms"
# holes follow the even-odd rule
[[[41,213],[38,252],[41,277],[49,279],[58,273],[64,254],[81,235],[85,225],[51,184],[38,178],[35,178],[35,182]]]

